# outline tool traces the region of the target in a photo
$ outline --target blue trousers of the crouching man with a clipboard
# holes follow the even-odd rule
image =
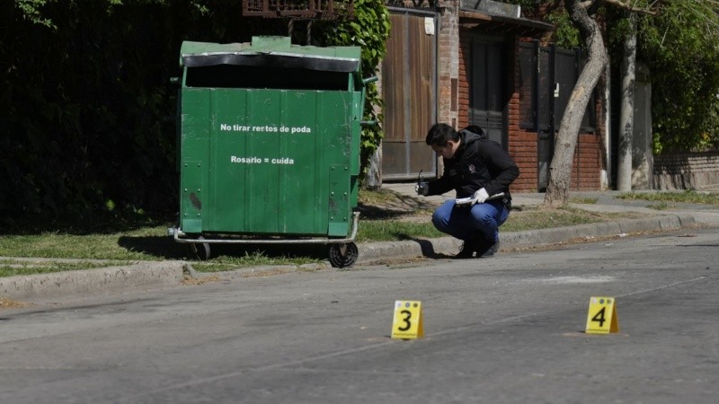
[[[502,199],[490,200],[475,206],[455,206],[449,199],[434,211],[432,224],[439,232],[463,241],[472,241],[481,235],[487,242],[497,242],[497,230],[510,215]]]

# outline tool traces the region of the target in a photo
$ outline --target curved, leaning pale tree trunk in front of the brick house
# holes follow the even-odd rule
[[[581,127],[581,119],[587,110],[591,92],[599,82],[599,76],[607,64],[607,53],[604,40],[596,21],[590,18],[587,9],[579,0],[567,0],[567,13],[574,26],[581,32],[584,46],[589,53],[587,64],[581,70],[579,80],[574,84],[572,95],[564,110],[564,117],[559,125],[559,134],[555,139],[555,155],[549,166],[549,183],[546,188],[545,206],[564,206],[569,200],[569,185],[572,176],[572,162],[577,137]]]

